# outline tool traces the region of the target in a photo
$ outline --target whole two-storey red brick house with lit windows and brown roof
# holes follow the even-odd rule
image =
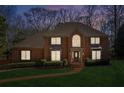
[[[12,49],[12,61],[67,59],[69,63],[109,59],[107,35],[77,22],[60,23],[53,30],[38,32]]]

